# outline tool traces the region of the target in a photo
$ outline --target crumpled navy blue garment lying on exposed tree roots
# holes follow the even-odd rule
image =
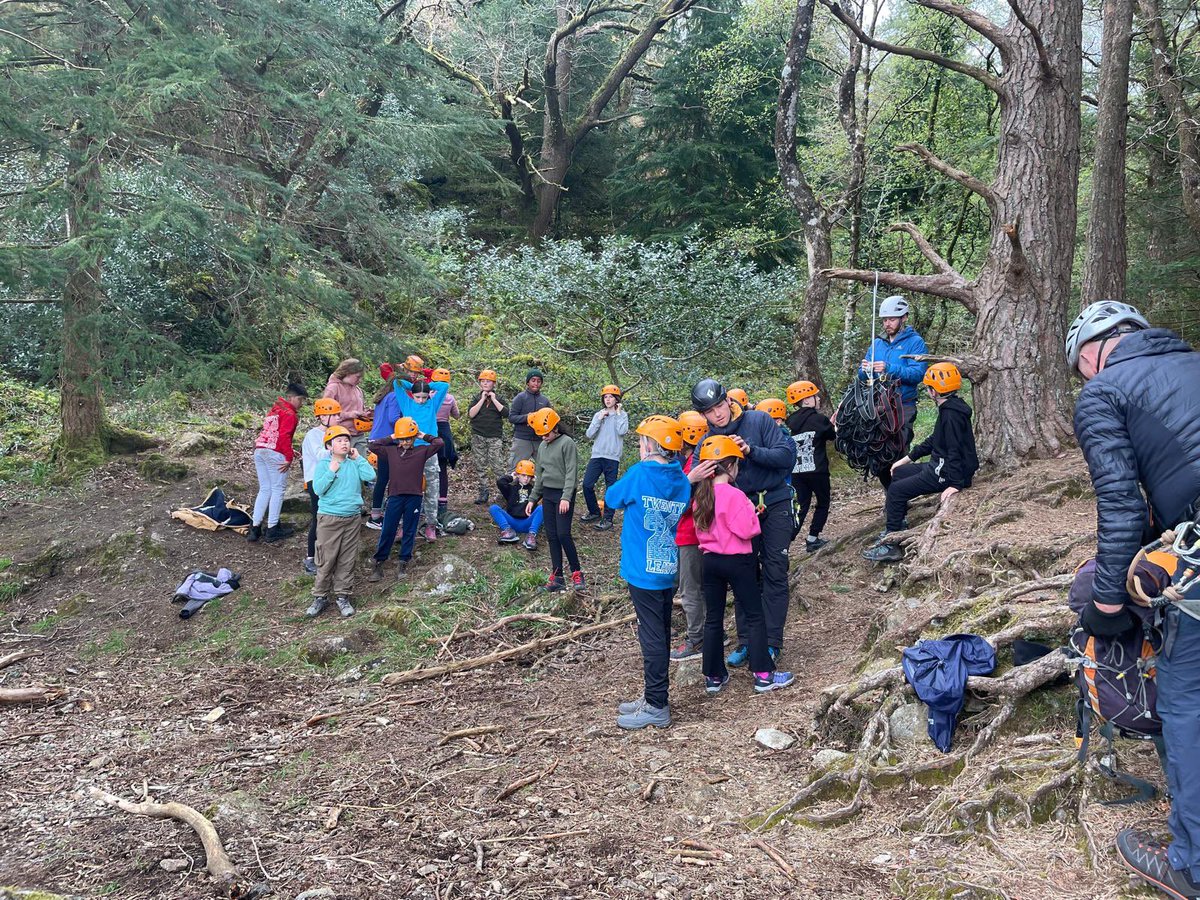
[[[943,754],[949,752],[967,677],[990,674],[996,668],[996,650],[978,635],[948,635],[905,648],[901,666],[908,684],[929,707],[930,739]]]

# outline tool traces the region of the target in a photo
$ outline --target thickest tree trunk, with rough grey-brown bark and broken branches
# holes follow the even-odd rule
[[[979,456],[1051,456],[1072,439],[1063,341],[1075,250],[1082,2],[1031,2],[1004,31],[991,245],[974,286]]]

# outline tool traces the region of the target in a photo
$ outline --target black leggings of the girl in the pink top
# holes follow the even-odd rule
[[[750,649],[750,671],[770,672],[775,668],[767,652],[767,628],[762,616],[762,593],[758,589],[758,565],[754,553],[704,553],[704,674],[725,678],[725,598],[733,590],[733,614],[738,619],[738,636]]]

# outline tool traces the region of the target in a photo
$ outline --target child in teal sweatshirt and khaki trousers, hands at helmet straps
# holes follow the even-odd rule
[[[329,456],[317,461],[312,490],[317,493],[317,582],[312,587],[308,618],[320,616],[332,588],[337,611],[353,616],[354,564],[359,560],[362,524],[362,485],[374,481],[374,469],[350,446],[350,432],[341,425],[325,431]]]

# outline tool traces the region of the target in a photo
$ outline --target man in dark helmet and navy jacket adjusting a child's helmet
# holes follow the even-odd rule
[[[792,485],[790,478],[796,466],[796,443],[784,433],[766,413],[748,409],[734,414],[725,388],[704,378],[691,389],[691,404],[708,421],[709,434],[733,438],[745,460],[738,467],[734,487],[742,490],[755,509],[762,534],[754,539],[762,581],[762,612],[767,623],[767,646],[772,660],[778,661],[784,647],[784,625],[787,622],[787,550],[792,542]],[[701,442],[703,443],[703,442]],[[700,446],[692,455],[688,473],[696,482],[712,475],[710,463],[700,462]],[[726,658],[730,666],[744,666],[749,658],[740,607],[734,605],[738,644]]]

